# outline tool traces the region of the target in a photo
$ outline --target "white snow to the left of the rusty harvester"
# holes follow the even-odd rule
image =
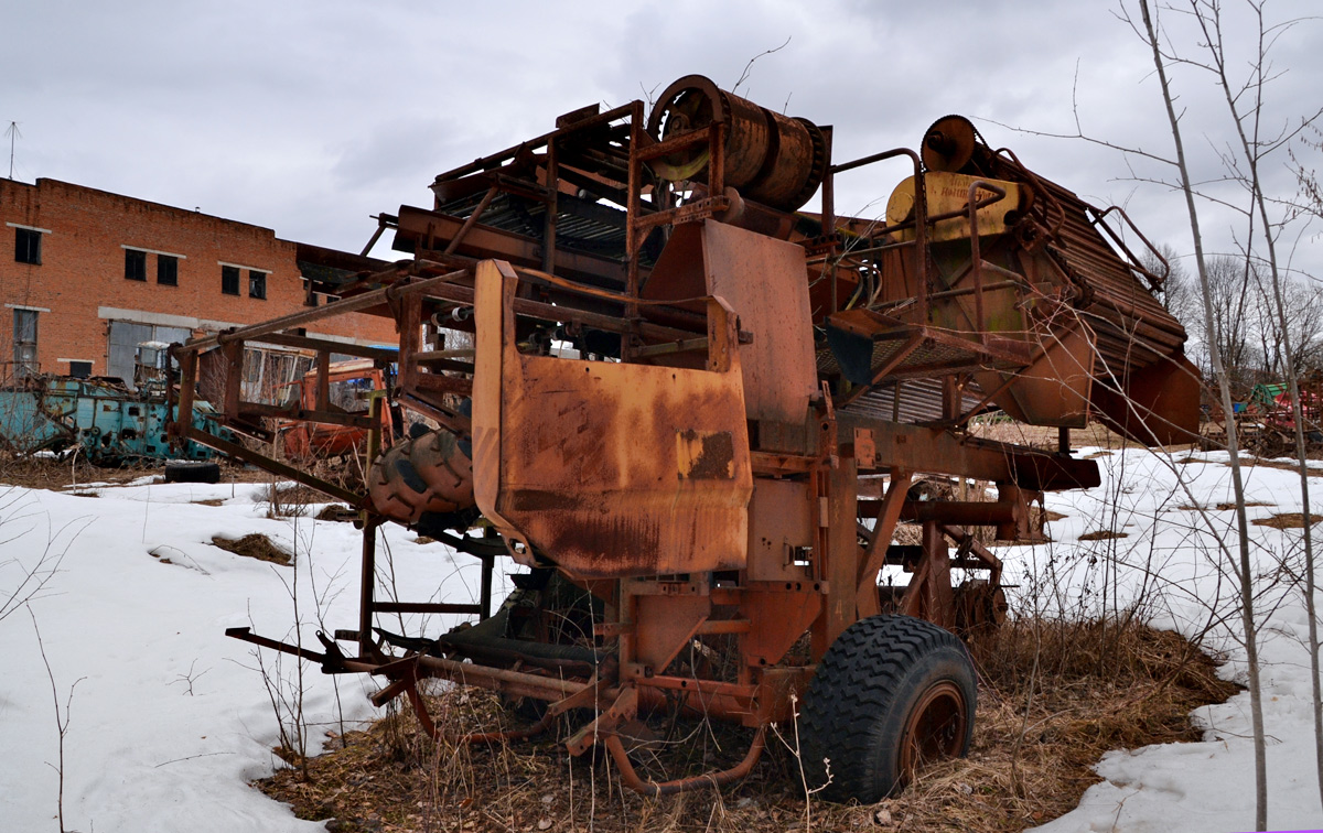
[[[75,489],[99,497],[0,493],[0,606],[42,554],[62,555],[32,615],[19,608],[0,619],[0,830],[58,829],[58,729],[33,617],[60,706],[69,707],[66,829],[321,830],[247,785],[280,766],[271,752],[279,734],[253,647],[224,635],[251,625],[292,641],[295,570],[221,550],[212,536],[265,533],[296,553],[299,620],[315,649],[319,612],[327,631],[357,625],[360,536],[349,524],[267,518],[263,485],[151,480]],[[224,502],[193,502],[201,500]],[[401,599],[474,598],[475,559],[417,545],[398,526],[384,532],[381,579],[393,573]],[[419,624],[407,623],[411,632]],[[275,670],[277,654],[262,660]],[[291,660],[278,669],[286,695]],[[341,730],[335,684],[347,723],[373,713],[365,689],[377,686],[366,678],[307,666],[303,681],[314,748]]]

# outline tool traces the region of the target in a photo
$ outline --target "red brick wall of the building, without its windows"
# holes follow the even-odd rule
[[[15,229],[48,229],[41,264],[15,260]],[[180,255],[179,286],[156,283],[156,255],[147,282],[124,278],[124,249]],[[221,294],[221,266],[245,267],[239,295]],[[249,267],[269,272],[266,300],[249,298]],[[270,229],[111,194],[56,180],[36,185],[0,178],[0,361],[13,360],[12,305],[40,307],[41,370],[67,373],[60,358],[91,360],[106,372],[110,323],[102,308],[163,313],[206,323],[253,324],[303,309],[295,245]],[[112,316],[134,320],[134,316]],[[212,324],[216,327],[217,324]],[[393,321],[351,313],[308,327],[308,335],[396,344]]]

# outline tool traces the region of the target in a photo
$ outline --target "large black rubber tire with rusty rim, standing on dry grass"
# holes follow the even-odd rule
[[[827,649],[804,695],[799,742],[810,792],[875,804],[925,762],[963,758],[975,697],[974,665],[950,631],[910,616],[856,621]]]

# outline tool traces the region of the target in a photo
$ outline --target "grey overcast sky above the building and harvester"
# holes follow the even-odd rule
[[[1234,12],[1225,26],[1232,69],[1244,77],[1253,24],[1238,0],[1224,3]],[[66,180],[359,250],[376,227],[370,214],[430,205],[427,185],[442,171],[550,130],[562,112],[647,98],[689,73],[729,89],[751,57],[789,38],[751,66],[740,91],[833,124],[836,161],[916,147],[931,122],[958,112],[1031,169],[1094,204],[1123,205],[1151,239],[1188,253],[1183,198],[1134,181],[1174,171],[1015,130],[1072,134],[1078,115],[1091,136],[1172,155],[1151,57],[1118,8],[1115,0],[7,0],[0,122],[19,123],[17,180]],[[1315,8],[1267,4],[1274,21]],[[1185,21],[1163,20],[1180,49],[1204,57]],[[1323,106],[1320,26],[1306,21],[1277,41],[1274,66],[1285,74],[1267,89],[1265,134]],[[1201,70],[1174,67],[1172,78],[1195,176],[1220,177],[1216,151],[1234,141],[1225,99]],[[1323,167],[1316,151],[1295,147],[1307,167]],[[1281,152],[1267,163],[1267,193],[1294,197],[1287,161]],[[898,168],[843,176],[837,210],[880,213],[902,176]],[[1232,249],[1236,218],[1205,208],[1209,247]],[[1323,278],[1310,233],[1293,231],[1283,258],[1297,239],[1295,266]]]

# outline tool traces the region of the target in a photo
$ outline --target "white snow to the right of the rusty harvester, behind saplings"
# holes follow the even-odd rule
[[[1085,452],[1088,454],[1088,451]],[[1046,508],[1068,517],[1049,525],[1056,543],[1003,551],[1021,567],[1044,604],[1070,614],[1138,604],[1159,627],[1205,643],[1229,660],[1222,674],[1246,681],[1244,627],[1237,617],[1238,558],[1226,454],[1162,455],[1127,451],[1098,457],[1103,484],[1089,492],[1049,495]],[[1299,475],[1246,468],[1253,521],[1301,512]],[[1310,479],[1315,512],[1323,477]],[[1080,541],[1099,529],[1126,538]],[[1310,710],[1308,620],[1294,575],[1303,575],[1301,530],[1252,526],[1256,604],[1262,611],[1259,658],[1267,735],[1269,829],[1323,828]],[[1318,528],[1315,528],[1318,532]],[[1220,543],[1225,542],[1225,543]],[[1323,543],[1323,542],[1320,542]],[[1229,547],[1228,550],[1221,549]],[[1015,557],[1023,554],[1023,561]],[[1115,563],[1115,570],[1107,565]],[[1323,578],[1323,574],[1320,574]],[[1017,580],[1008,578],[1008,582]],[[1057,591],[1057,588],[1061,588]],[[1106,596],[1106,598],[1105,598]],[[1080,807],[1039,828],[1048,833],[1209,833],[1254,829],[1254,763],[1249,693],[1200,709],[1203,743],[1114,751],[1098,764],[1106,780]]]

